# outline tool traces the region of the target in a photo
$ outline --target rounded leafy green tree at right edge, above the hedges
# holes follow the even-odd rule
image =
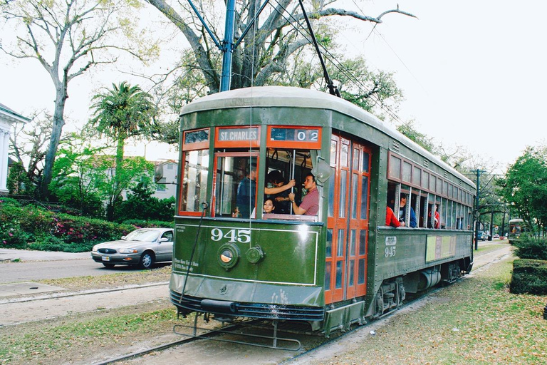
[[[499,194],[528,224],[547,227],[547,148],[528,147],[498,180]]]

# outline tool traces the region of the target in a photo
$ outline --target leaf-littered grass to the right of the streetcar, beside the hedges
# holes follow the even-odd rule
[[[509,293],[511,262],[437,292],[325,364],[546,364],[547,297]]]

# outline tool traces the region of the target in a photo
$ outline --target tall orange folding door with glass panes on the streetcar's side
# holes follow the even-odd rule
[[[366,293],[371,150],[333,135],[325,262],[325,302]]]

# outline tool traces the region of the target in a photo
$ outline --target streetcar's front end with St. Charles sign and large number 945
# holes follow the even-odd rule
[[[324,319],[321,186],[316,207],[299,209],[313,195],[303,182],[321,160],[323,127],[266,120],[253,108],[182,115],[170,279],[179,313]]]

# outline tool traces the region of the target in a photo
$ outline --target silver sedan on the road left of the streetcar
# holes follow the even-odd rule
[[[140,228],[121,240],[93,246],[91,257],[105,267],[135,265],[150,269],[158,262],[172,262],[173,229]]]

